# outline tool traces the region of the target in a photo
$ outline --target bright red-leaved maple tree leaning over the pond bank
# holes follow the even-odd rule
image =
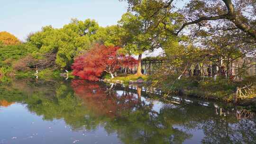
[[[118,46],[94,45],[87,53],[75,59],[72,65],[73,75],[84,80],[98,81],[105,71],[113,77],[113,73],[121,67],[123,62],[129,65],[125,59],[133,59],[130,56],[118,54],[119,48]]]

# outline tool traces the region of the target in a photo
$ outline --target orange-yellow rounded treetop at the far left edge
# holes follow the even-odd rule
[[[19,45],[20,41],[17,37],[14,35],[8,33],[8,32],[0,32],[0,43],[3,43],[4,45]]]

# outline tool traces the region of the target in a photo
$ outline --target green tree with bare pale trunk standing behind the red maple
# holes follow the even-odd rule
[[[155,48],[160,47],[154,41],[155,37],[157,37],[154,37],[155,31],[149,29],[151,27],[149,21],[131,12],[127,12],[122,16],[121,20],[119,20],[119,26],[122,28],[120,36],[123,48],[128,54],[138,55],[137,75],[142,75],[142,54],[147,50],[153,51]]]

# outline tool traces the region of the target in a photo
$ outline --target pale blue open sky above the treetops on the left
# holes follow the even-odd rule
[[[119,0],[1,0],[0,31],[24,40],[30,32],[52,25],[63,27],[71,18],[95,19],[100,26],[114,25],[127,10]]]

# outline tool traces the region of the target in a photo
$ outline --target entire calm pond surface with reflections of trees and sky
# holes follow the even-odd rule
[[[79,80],[0,84],[0,144],[256,144],[250,110],[152,95]]]

